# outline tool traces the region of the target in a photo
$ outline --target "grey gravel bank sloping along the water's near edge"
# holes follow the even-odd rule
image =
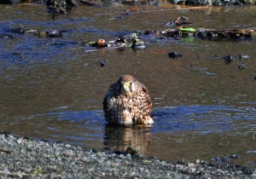
[[[143,157],[132,147],[98,152],[1,134],[0,178],[256,178],[256,170],[201,159],[173,164]]]

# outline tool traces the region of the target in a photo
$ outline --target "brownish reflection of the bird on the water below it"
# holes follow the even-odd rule
[[[125,151],[127,147],[136,147],[140,154],[149,152],[152,144],[151,127],[105,126],[104,145],[106,150]]]

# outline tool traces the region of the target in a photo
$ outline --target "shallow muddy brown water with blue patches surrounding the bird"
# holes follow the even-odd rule
[[[95,50],[76,43],[166,29],[166,21],[181,15],[194,21],[190,26],[195,28],[255,27],[255,8],[179,10],[161,3],[138,7],[142,13],[124,14],[129,8],[119,3],[110,9],[79,4],[73,12],[53,20],[41,5],[2,6],[0,34],[20,24],[67,32],[61,38],[15,34],[14,39],[0,39],[0,129],[98,150],[134,146],[144,155],[173,162],[219,158],[255,168],[254,40],[216,42],[141,35],[147,44],[143,50]],[[183,57],[170,59],[169,51]],[[236,59],[230,65],[212,58],[228,53]],[[243,61],[245,70],[236,67],[242,62],[237,58],[240,53],[250,56]],[[107,65],[99,66],[105,59]],[[105,124],[102,99],[122,74],[131,74],[148,87],[155,116],[151,128]],[[230,159],[231,155],[239,158]]]

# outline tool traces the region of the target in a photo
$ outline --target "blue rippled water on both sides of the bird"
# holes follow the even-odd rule
[[[180,132],[192,132],[194,134],[208,134],[219,132],[232,132],[237,130],[255,130],[256,118],[255,109],[252,107],[237,108],[235,106],[180,106],[180,107],[160,107],[154,108],[154,125],[151,133],[163,133],[175,135]],[[77,136],[68,136],[65,129],[51,130],[61,131],[61,135],[66,136],[69,140],[81,140],[81,137],[98,138],[106,132],[106,122],[102,111],[82,111],[82,112],[55,112],[36,115],[34,118],[47,118],[48,121],[55,121],[55,125],[63,121],[72,122],[73,125],[79,123],[80,131],[76,132]],[[62,126],[62,125],[61,125]],[[118,128],[118,127],[117,127]],[[123,128],[121,128],[124,130]],[[86,131],[90,133],[86,134]],[[79,133],[80,132],[80,133]],[[70,134],[69,134],[70,135]],[[77,139],[76,139],[77,137]]]

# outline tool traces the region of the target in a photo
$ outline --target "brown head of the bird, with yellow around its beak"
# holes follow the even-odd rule
[[[119,78],[120,92],[122,95],[132,97],[134,91],[136,90],[137,79],[131,75],[124,75]]]

